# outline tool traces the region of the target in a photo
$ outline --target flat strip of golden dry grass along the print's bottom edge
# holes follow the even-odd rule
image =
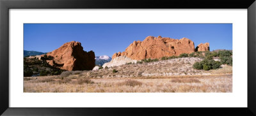
[[[24,92],[232,92],[232,75],[24,77]]]

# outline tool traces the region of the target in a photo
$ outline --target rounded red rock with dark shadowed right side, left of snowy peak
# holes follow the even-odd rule
[[[91,70],[95,67],[94,52],[84,51],[81,43],[77,41],[65,43],[46,55],[53,57],[52,60],[47,60],[51,66],[68,71]]]

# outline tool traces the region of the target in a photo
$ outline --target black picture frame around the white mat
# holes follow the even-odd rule
[[[244,8],[248,10],[247,108],[10,108],[9,9],[15,8]],[[2,115],[256,115],[255,0],[0,0],[0,114]],[[243,41],[243,38],[241,38]],[[246,77],[244,77],[246,78]],[[234,101],[236,102],[236,101]]]

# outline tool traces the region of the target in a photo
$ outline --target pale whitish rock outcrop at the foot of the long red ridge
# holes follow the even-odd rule
[[[108,68],[110,68],[113,66],[121,66],[129,62],[136,63],[137,61],[132,60],[131,58],[126,57],[125,55],[122,55],[122,56],[116,57],[115,59],[112,59],[110,62],[103,64],[102,67],[105,68],[106,66],[108,66]]]

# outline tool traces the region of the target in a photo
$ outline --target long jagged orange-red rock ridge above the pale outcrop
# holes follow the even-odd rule
[[[134,60],[148,58],[158,59],[164,56],[178,56],[183,53],[191,54],[194,51],[194,42],[188,38],[176,40],[172,38],[162,38],[161,36],[158,36],[157,38],[148,36],[143,41],[134,41],[124,52],[113,54],[112,59],[123,55]]]

